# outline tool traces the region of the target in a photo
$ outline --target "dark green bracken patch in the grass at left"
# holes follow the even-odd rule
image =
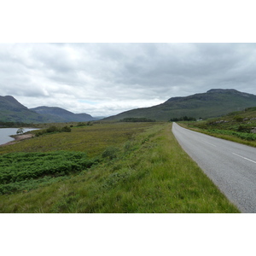
[[[0,194],[28,191],[54,183],[96,164],[82,152],[0,155]]]

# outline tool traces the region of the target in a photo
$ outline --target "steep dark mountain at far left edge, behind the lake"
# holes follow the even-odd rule
[[[0,96],[0,121],[42,123],[47,119],[20,104],[13,96]]]

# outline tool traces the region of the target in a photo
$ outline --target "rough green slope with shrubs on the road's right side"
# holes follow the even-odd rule
[[[229,113],[218,119],[182,122],[186,128],[256,147],[256,107]]]

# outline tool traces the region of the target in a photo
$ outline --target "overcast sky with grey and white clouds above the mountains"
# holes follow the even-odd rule
[[[256,94],[256,44],[0,44],[0,96],[108,116],[213,88]]]

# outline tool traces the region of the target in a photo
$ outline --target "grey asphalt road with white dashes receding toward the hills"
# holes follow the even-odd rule
[[[256,148],[173,123],[178,143],[241,212],[256,212]]]

